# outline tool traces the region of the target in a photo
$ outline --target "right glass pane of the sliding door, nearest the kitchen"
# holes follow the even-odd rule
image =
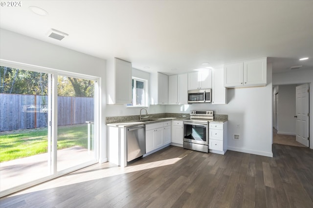
[[[94,103],[94,81],[58,76],[58,171],[95,161]]]

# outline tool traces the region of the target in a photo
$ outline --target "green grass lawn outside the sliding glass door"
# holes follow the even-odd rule
[[[87,124],[58,127],[58,149],[87,148]],[[0,162],[28,157],[48,150],[48,128],[0,132]]]

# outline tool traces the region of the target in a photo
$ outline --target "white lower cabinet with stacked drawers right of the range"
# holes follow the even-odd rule
[[[227,122],[209,123],[209,151],[224,155],[227,151]]]

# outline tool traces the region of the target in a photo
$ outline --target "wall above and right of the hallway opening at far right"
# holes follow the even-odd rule
[[[310,83],[310,113],[313,112],[313,69],[273,74],[273,85]],[[313,116],[310,116],[310,148],[313,149]]]

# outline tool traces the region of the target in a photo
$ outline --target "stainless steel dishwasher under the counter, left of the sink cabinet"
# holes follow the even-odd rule
[[[146,154],[146,126],[127,127],[127,162]]]

